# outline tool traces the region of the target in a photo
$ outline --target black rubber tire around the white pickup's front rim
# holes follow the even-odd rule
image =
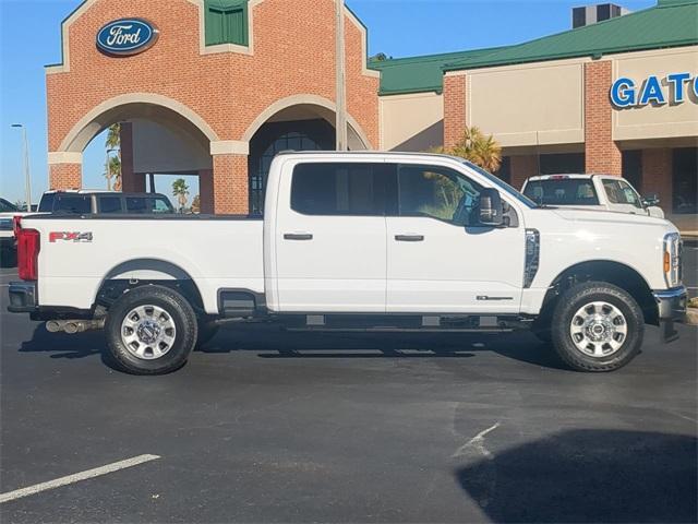
[[[619,347],[609,355],[587,355],[573,340],[570,327],[575,315],[591,302],[604,302],[615,307],[625,319],[626,333],[619,338]],[[624,289],[605,282],[587,282],[573,286],[561,295],[553,311],[551,333],[555,352],[571,369],[589,372],[614,371],[628,364],[639,353],[645,336],[645,318],[637,301]]]

